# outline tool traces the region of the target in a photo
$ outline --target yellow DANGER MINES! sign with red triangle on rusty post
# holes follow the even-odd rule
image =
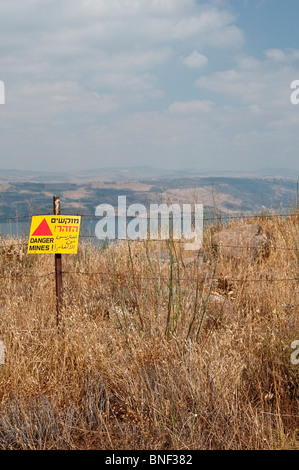
[[[28,253],[77,253],[80,216],[38,215],[31,221]]]

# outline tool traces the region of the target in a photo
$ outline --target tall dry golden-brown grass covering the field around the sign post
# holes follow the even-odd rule
[[[81,245],[59,333],[53,256],[2,240],[0,449],[299,449],[298,217],[254,222],[267,259]]]

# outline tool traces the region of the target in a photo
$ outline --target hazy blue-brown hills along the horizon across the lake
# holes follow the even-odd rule
[[[97,173],[98,172],[98,173]],[[104,173],[105,172],[105,173]],[[52,196],[63,212],[94,215],[102,203],[202,203],[224,214],[288,209],[298,203],[297,178],[250,175],[171,175],[150,167],[105,169],[82,173],[0,172],[0,217],[52,213]],[[99,176],[100,175],[100,176]],[[293,173],[293,176],[296,175]]]

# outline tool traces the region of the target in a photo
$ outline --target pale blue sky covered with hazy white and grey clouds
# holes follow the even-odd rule
[[[1,0],[0,168],[299,170],[297,22],[298,0]]]

